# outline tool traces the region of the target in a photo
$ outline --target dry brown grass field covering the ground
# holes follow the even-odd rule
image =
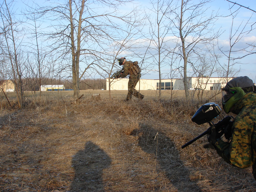
[[[156,91],[141,92],[143,100],[125,102],[127,91],[110,100],[106,90],[86,90],[79,104],[72,92],[28,93],[22,110],[1,95],[0,192],[256,191],[252,169],[204,149],[205,137],[181,148],[208,128],[191,121],[194,112],[220,95],[185,102],[183,91],[170,100],[166,90],[159,102]]]

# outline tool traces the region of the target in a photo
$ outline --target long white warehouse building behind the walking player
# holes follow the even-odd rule
[[[234,78],[234,77],[233,77]],[[228,78],[230,81],[233,78]],[[109,79],[106,79],[106,89],[109,90]],[[110,90],[128,90],[128,78],[110,79]],[[226,85],[226,78],[220,77],[189,77],[188,86],[191,90],[220,90]],[[162,79],[161,88],[167,90],[184,90],[183,79]],[[136,90],[157,90],[158,79],[140,79]]]

